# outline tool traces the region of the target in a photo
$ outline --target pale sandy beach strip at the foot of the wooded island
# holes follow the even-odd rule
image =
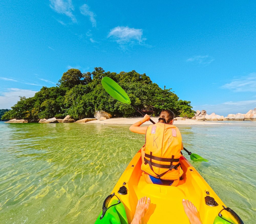
[[[140,121],[142,117],[132,117],[132,118],[110,118],[106,120],[95,120],[89,121],[88,123],[98,123],[98,124],[134,124],[137,121]],[[158,122],[158,118],[151,118],[154,122]],[[150,121],[145,122],[144,124],[152,124]],[[174,121],[174,125],[205,125],[205,124],[230,124],[230,123],[218,123],[214,121],[197,121],[186,119],[185,121]]]

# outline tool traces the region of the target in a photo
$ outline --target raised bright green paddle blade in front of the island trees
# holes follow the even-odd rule
[[[109,77],[104,77],[101,80],[101,84],[106,92],[111,95],[111,97],[123,103],[131,104],[131,100],[128,97],[127,93],[113,79]]]

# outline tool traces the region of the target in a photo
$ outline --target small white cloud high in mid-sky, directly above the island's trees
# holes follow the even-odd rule
[[[139,44],[146,40],[146,38],[142,38],[143,30],[142,29],[134,29],[124,26],[118,26],[112,29],[108,35],[108,37],[113,37],[116,39],[116,42],[119,44],[125,44],[128,42],[137,41]]]

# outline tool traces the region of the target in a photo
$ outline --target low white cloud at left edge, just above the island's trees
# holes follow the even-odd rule
[[[0,109],[11,109],[11,106],[19,101],[21,97],[33,97],[37,91],[9,88],[7,92],[0,92]]]

